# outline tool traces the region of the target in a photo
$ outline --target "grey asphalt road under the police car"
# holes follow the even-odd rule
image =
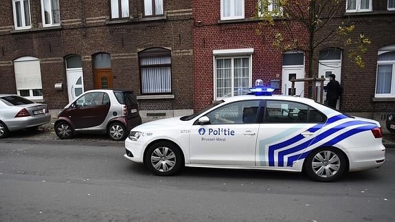
[[[0,221],[394,221],[395,149],[375,170],[318,183],[297,173],[185,168],[151,175],[123,144],[0,140]]]

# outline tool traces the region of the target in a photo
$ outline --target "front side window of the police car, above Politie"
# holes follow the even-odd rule
[[[260,100],[233,102],[207,113],[211,124],[253,124],[258,122]]]

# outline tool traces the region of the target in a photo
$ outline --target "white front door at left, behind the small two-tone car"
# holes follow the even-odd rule
[[[69,102],[84,92],[82,68],[67,69],[67,91],[69,93]]]

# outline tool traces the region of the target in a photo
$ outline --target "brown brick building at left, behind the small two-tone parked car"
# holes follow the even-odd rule
[[[58,110],[82,91],[129,89],[143,118],[192,113],[190,1],[9,0],[0,6],[0,93]]]

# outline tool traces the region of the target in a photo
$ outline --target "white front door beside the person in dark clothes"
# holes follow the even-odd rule
[[[324,76],[325,81],[324,81],[324,86],[326,86],[329,82],[329,75],[330,74],[335,74],[336,80],[340,82],[341,80],[341,60],[319,60],[319,67],[318,67],[318,76],[321,78],[321,76]],[[317,82],[317,84],[321,84]],[[318,86],[318,95],[320,93],[320,88]],[[326,100],[326,91],[324,91],[324,101]],[[318,98],[319,100],[319,98]],[[322,102],[322,101],[319,101]],[[339,109],[339,101],[337,101],[336,109]]]

